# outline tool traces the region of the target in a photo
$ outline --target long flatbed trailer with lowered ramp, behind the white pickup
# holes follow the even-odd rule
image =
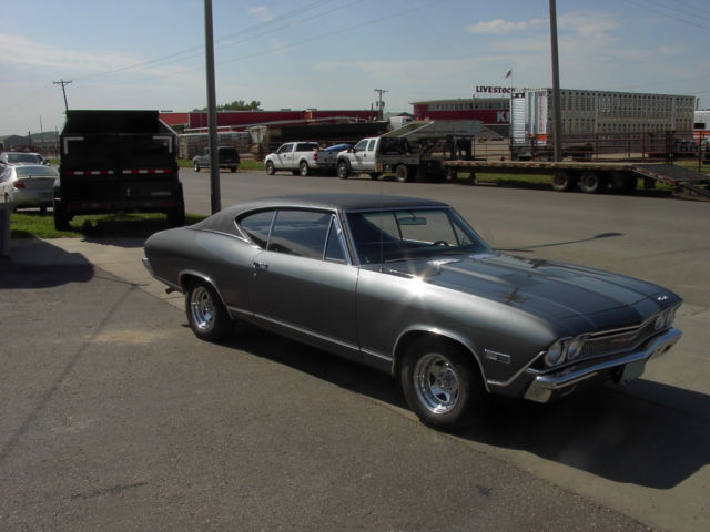
[[[586,193],[600,193],[611,185],[617,192],[636,188],[639,178],[647,183],[665,183],[684,192],[710,198],[710,192],[701,187],[710,182],[708,174],[701,174],[676,164],[633,162],[528,162],[528,161],[443,161],[449,173],[468,172],[468,184],[476,184],[476,173],[489,174],[549,174],[552,188],[560,192],[572,191],[577,186]]]

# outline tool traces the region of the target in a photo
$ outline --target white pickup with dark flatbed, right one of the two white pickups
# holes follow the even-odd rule
[[[375,136],[338,153],[337,175],[346,180],[351,174],[369,174],[376,180],[385,172],[394,172],[397,181],[404,182],[414,178],[418,164],[419,157],[412,153],[406,139]]]

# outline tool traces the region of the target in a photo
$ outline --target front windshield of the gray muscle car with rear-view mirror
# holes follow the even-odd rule
[[[450,208],[354,212],[347,224],[361,264],[490,252]]]

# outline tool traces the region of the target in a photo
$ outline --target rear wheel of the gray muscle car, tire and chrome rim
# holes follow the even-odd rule
[[[216,290],[204,280],[190,285],[185,294],[185,314],[190,328],[201,340],[223,340],[234,328]]]

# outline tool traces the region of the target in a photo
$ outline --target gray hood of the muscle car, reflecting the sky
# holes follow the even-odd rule
[[[636,325],[680,303],[670,290],[610,272],[503,254],[389,263],[390,273],[519,308],[570,329]]]

